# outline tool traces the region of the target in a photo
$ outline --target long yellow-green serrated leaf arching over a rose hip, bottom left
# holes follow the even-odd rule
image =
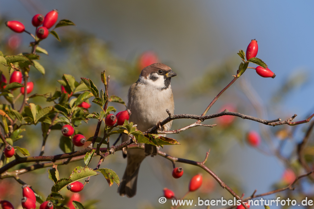
[[[52,186],[52,192],[59,192],[68,184],[72,183],[73,181],[78,181],[80,179],[84,179],[89,176],[98,175],[98,173],[93,170],[92,168],[82,168],[76,167],[75,170],[72,172],[71,176],[68,179],[60,179],[58,180],[55,185]]]

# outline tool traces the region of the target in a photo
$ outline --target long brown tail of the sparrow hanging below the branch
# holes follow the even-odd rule
[[[133,197],[136,195],[138,171],[145,157],[143,149],[127,150],[127,167],[118,188],[121,196]]]

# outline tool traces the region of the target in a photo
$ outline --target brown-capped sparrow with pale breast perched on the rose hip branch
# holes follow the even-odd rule
[[[129,121],[137,124],[138,130],[145,132],[161,120],[166,119],[168,117],[166,109],[173,114],[174,102],[170,80],[176,75],[167,65],[155,63],[145,67],[138,81],[130,87],[127,95],[127,107],[132,114]],[[162,129],[170,130],[171,124],[172,121],[165,124]],[[127,135],[122,136],[122,142],[128,139]],[[156,146],[151,144],[144,146],[144,150],[127,150],[127,167],[118,189],[121,196],[133,197],[136,194],[138,170],[141,162],[148,155],[157,155]]]

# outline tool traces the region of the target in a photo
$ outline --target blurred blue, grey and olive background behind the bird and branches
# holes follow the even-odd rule
[[[258,41],[257,57],[264,60],[277,76],[262,78],[253,69],[247,69],[234,85],[225,91],[208,114],[223,111],[228,107],[237,112],[273,120],[283,120],[297,114],[297,120],[306,119],[314,111],[313,68],[311,66],[314,43],[311,41],[314,13],[311,1],[39,1],[0,0],[0,50],[5,55],[30,52],[32,38],[15,34],[5,27],[7,20],[18,20],[26,30],[35,33],[31,18],[45,15],[58,9],[58,19],[69,19],[76,26],[57,28],[61,42],[52,35],[41,42],[49,56],[40,54],[40,63],[46,69],[42,76],[34,68],[30,81],[34,81],[34,93],[43,94],[60,89],[57,80],[62,74],[71,74],[77,81],[87,77],[98,88],[102,83],[100,72],[106,70],[111,76],[109,94],[117,95],[127,102],[127,90],[136,82],[142,69],[141,59],[158,60],[169,65],[178,76],[171,81],[177,114],[202,114],[208,104],[236,75],[241,58],[239,49],[246,51],[251,39]],[[146,56],[146,58],[145,58]],[[148,57],[148,58],[147,58]],[[256,65],[250,64],[255,67]],[[2,69],[3,70],[3,69]],[[8,78],[8,71],[3,70]],[[4,102],[1,100],[0,102]],[[32,102],[42,106],[52,105],[44,98]],[[90,99],[91,102],[91,99]],[[121,104],[113,103],[117,111],[124,110]],[[100,112],[92,103],[89,112]],[[287,125],[266,127],[241,118],[212,119],[206,124],[214,128],[196,127],[169,137],[181,145],[165,146],[162,151],[179,158],[203,161],[211,149],[207,166],[227,185],[241,196],[250,196],[281,188],[289,183],[285,179],[287,169],[293,175],[305,173],[298,165],[296,145],[302,140],[309,124],[297,127]],[[178,129],[193,123],[192,120],[175,120],[172,128]],[[96,120],[82,124],[79,130],[86,137],[95,132]],[[246,142],[246,133],[256,131],[261,136],[258,148]],[[101,133],[100,133],[101,135]],[[60,154],[58,148],[60,131],[50,134],[46,155]],[[313,144],[310,138],[309,148]],[[38,155],[41,144],[39,125],[28,127],[23,140],[16,145],[27,148],[31,155]],[[278,150],[280,160],[274,150]],[[307,160],[312,163],[313,152],[308,149]],[[89,167],[94,168],[99,158],[95,157]],[[58,166],[61,177],[68,177],[83,162]],[[114,170],[122,178],[126,160],[121,152],[110,155],[101,167]],[[94,208],[170,208],[170,201],[158,203],[167,187],[181,198],[187,191],[189,180],[197,173],[203,174],[202,187],[187,196],[187,199],[233,199],[214,179],[198,167],[182,166],[180,179],[171,176],[172,164],[160,156],[146,158],[141,165],[137,195],[131,199],[120,197],[117,185],[108,187],[103,176],[90,179],[80,192],[84,201],[98,199]],[[46,197],[53,182],[48,179],[47,169],[36,170],[21,176],[35,191]],[[289,172],[288,172],[289,173]],[[296,191],[266,196],[274,199],[280,195],[302,200],[304,196],[314,199],[313,182],[304,179]],[[20,186],[12,179],[0,180],[0,191],[8,186],[10,192],[0,192],[1,199],[20,205]],[[64,195],[70,195],[63,191]],[[2,195],[2,196],[1,196]],[[264,198],[264,199],[265,199]],[[299,201],[300,202],[300,201]],[[298,203],[299,203],[298,202]],[[20,206],[19,206],[20,207]],[[93,206],[90,206],[92,208]],[[212,206],[221,208],[222,206]],[[191,206],[184,208],[206,208]],[[252,206],[251,208],[263,208]]]

